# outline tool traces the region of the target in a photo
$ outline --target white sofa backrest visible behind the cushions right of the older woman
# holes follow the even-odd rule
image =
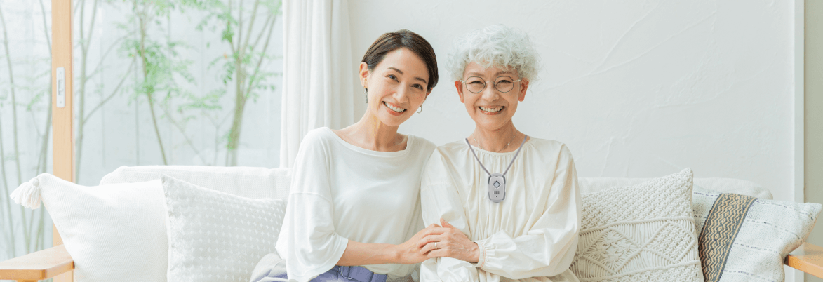
[[[598,192],[611,187],[632,186],[644,183],[652,178],[579,178],[580,193],[586,194]],[[769,190],[761,187],[757,183],[734,178],[695,178],[695,186],[704,189],[722,192],[735,193],[746,196],[754,196],[760,199],[771,200],[772,194]]]

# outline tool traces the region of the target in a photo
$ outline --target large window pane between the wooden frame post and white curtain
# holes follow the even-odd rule
[[[277,167],[280,6],[77,1],[77,183],[121,165]]]

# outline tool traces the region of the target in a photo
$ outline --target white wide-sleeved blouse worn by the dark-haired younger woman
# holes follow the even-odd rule
[[[435,144],[409,135],[405,150],[366,150],[328,127],[300,143],[277,252],[289,280],[308,281],[340,261],[348,240],[399,244],[424,228],[420,179]],[[397,278],[414,265],[364,266]]]

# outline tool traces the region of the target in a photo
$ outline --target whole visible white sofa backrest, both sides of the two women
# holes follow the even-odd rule
[[[122,166],[106,174],[100,185],[136,183],[159,179],[160,175],[177,178],[200,187],[249,198],[286,199],[291,182],[290,169],[252,167],[213,167],[197,165]],[[597,192],[608,187],[632,186],[651,178],[579,178],[580,192]],[[757,183],[734,178],[695,178],[695,186],[724,193],[736,193],[772,199],[771,192]]]

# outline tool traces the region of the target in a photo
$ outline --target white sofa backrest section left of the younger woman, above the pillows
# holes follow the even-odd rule
[[[100,185],[136,183],[160,179],[161,175],[220,192],[247,198],[286,199],[291,174],[289,169],[214,167],[197,165],[121,166],[106,174]]]

